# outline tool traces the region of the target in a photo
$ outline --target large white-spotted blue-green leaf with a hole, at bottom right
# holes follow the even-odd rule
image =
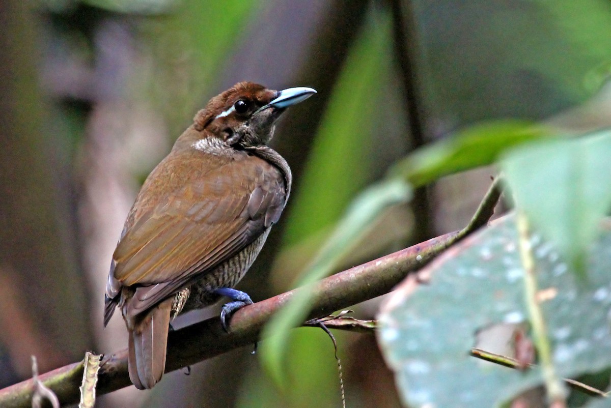
[[[521,373],[469,356],[479,330],[525,321],[524,270],[514,216],[460,242],[421,272],[430,283],[403,283],[382,305],[378,342],[406,405],[491,407],[543,383],[538,368]],[[552,244],[533,236],[542,304],[562,377],[611,366],[611,227],[596,243],[584,288]],[[421,275],[422,276],[422,275]]]

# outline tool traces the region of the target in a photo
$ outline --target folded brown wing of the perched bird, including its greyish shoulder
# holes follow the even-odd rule
[[[276,222],[284,208],[284,178],[276,167],[255,156],[208,159],[216,163],[167,161],[136,199],[112,271],[122,286],[147,286],[130,302],[133,315],[233,257]],[[192,172],[179,179],[173,167],[191,169],[189,164]],[[145,200],[155,194],[155,205],[148,205]]]

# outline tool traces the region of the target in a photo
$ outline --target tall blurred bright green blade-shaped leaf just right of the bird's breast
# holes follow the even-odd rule
[[[359,189],[373,181],[373,117],[384,96],[380,82],[390,76],[390,61],[384,56],[391,49],[388,16],[370,15],[348,54],[292,198],[287,246],[336,222]]]

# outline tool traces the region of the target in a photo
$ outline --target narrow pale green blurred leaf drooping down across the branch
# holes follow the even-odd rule
[[[313,285],[317,280],[329,275],[337,261],[353,248],[354,242],[384,209],[407,202],[410,197],[411,189],[402,180],[382,181],[359,194],[338,222],[327,244],[305,271],[298,286]],[[310,299],[311,291],[298,291],[288,305],[263,329],[262,337],[269,338],[262,343],[259,356],[268,373],[278,384],[287,385],[282,360],[287,351],[290,329],[305,320],[310,311]]]

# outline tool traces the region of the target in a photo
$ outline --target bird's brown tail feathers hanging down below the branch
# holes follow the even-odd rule
[[[172,300],[167,299],[149,310],[130,332],[130,379],[141,390],[157,384],[166,368]]]

